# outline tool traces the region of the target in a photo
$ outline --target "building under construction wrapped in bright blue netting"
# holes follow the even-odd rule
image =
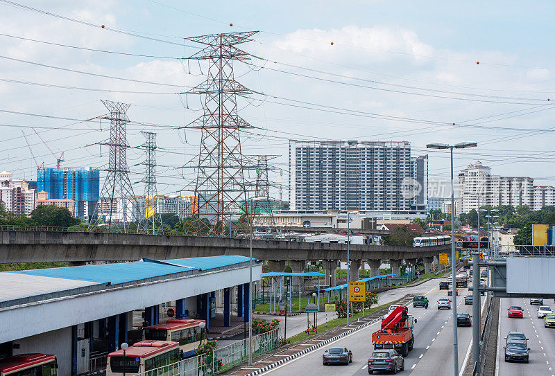
[[[91,168],[39,168],[37,190],[49,199],[72,199],[77,217],[88,219],[99,200],[100,172]]]

